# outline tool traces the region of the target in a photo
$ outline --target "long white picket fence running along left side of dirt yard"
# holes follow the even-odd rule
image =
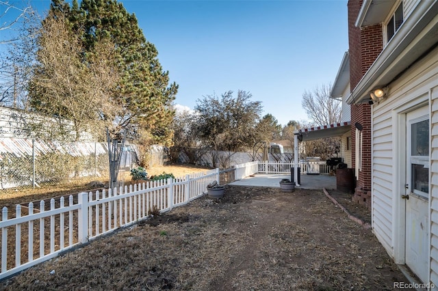
[[[3,207],[1,229],[0,279],[14,275],[77,245],[127,227],[151,214],[157,208],[166,212],[204,195],[207,184],[219,182],[219,169],[205,174],[187,175],[125,186],[118,191],[96,191],[50,200],[17,205],[15,214]],[[46,209],[49,208],[49,209]],[[8,253],[8,245],[14,249]]]

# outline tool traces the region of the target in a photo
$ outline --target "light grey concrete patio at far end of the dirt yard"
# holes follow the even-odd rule
[[[255,174],[253,177],[246,177],[242,180],[232,182],[236,186],[261,186],[280,188],[281,179],[290,179],[287,174]],[[300,189],[336,189],[336,177],[329,175],[301,175]]]

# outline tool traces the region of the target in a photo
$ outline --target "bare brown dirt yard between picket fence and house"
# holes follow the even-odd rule
[[[0,289],[393,290],[395,281],[407,282],[372,232],[322,191],[227,186],[222,199],[92,241]]]

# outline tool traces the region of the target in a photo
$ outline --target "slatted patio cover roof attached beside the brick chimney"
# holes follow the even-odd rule
[[[339,122],[295,130],[294,135],[298,135],[298,140],[300,141],[311,141],[314,139],[324,139],[326,137],[340,137],[348,133],[350,129],[351,122]]]

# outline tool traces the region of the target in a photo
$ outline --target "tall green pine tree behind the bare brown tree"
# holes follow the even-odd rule
[[[71,6],[53,0],[47,17],[59,14],[66,15],[68,29],[79,34],[81,64],[99,59],[102,44],[113,45],[113,70],[119,77],[108,98],[120,107],[115,131],[170,145],[172,131],[167,128],[174,115],[171,105],[178,85],[169,84],[158,51],[144,37],[136,15],[129,14],[116,0],[83,0],[80,5],[74,0]],[[32,95],[38,102],[47,98],[44,94]]]

